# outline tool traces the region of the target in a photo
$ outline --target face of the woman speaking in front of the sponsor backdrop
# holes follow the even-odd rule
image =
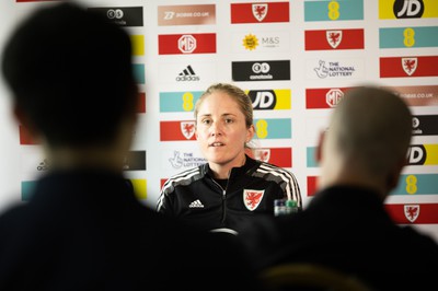
[[[254,136],[254,126],[246,128],[239,104],[224,92],[214,92],[199,106],[196,116],[196,139],[210,166],[242,166],[245,142]]]

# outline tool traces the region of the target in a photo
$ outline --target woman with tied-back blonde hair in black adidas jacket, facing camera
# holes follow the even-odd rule
[[[274,214],[275,199],[301,195],[292,173],[247,155],[255,133],[251,98],[226,83],[207,89],[195,105],[196,139],[208,161],[163,185],[157,210],[203,230],[238,234],[243,221]]]

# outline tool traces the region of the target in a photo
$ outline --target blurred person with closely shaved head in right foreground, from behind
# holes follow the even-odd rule
[[[437,243],[396,225],[384,207],[406,163],[411,132],[410,109],[396,95],[373,86],[348,91],[321,135],[319,190],[308,207],[253,222],[242,233],[256,268],[314,263],[373,290],[436,289]]]

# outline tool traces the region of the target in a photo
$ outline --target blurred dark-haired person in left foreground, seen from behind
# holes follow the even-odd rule
[[[2,58],[12,110],[49,170],[0,217],[0,290],[257,288],[240,245],[147,208],[123,175],[137,123],[131,44],[72,3],[42,7]]]

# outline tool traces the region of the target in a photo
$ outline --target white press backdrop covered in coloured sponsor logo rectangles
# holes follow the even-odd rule
[[[54,2],[2,1],[0,39],[28,11]],[[232,82],[253,101],[254,156],[292,171],[306,207],[320,174],[318,135],[344,93],[366,82],[397,92],[414,114],[408,165],[388,211],[438,240],[438,1],[78,2],[131,36],[142,103],[125,171],[147,206],[168,177],[206,162],[194,104],[211,83]],[[2,85],[1,207],[25,202],[50,166],[7,114],[7,94]]]

